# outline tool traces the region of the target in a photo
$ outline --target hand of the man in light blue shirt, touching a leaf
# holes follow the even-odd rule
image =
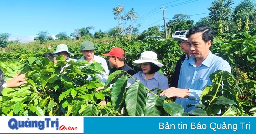
[[[171,87],[164,90],[160,94],[160,96],[163,96],[163,95],[165,95],[167,98],[171,98],[171,97],[186,98],[186,97],[189,97],[189,89]]]

